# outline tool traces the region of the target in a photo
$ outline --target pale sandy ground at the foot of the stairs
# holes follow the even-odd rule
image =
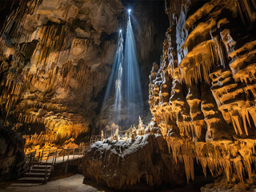
[[[98,190],[93,186],[85,185],[82,183],[83,176],[82,174],[75,174],[67,178],[61,178],[56,181],[47,182],[46,185],[40,186],[10,186],[11,183],[6,184],[4,189],[1,189],[1,192],[7,191],[17,191],[17,192],[96,192],[104,191]]]

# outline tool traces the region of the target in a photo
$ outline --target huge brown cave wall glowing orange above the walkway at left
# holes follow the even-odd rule
[[[0,109],[26,146],[90,134],[122,9],[118,0],[32,0],[10,14],[0,39]]]

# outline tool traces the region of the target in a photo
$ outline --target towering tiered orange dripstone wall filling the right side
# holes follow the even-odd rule
[[[189,181],[250,183],[255,161],[254,1],[169,1],[170,28],[150,74],[150,110]]]

